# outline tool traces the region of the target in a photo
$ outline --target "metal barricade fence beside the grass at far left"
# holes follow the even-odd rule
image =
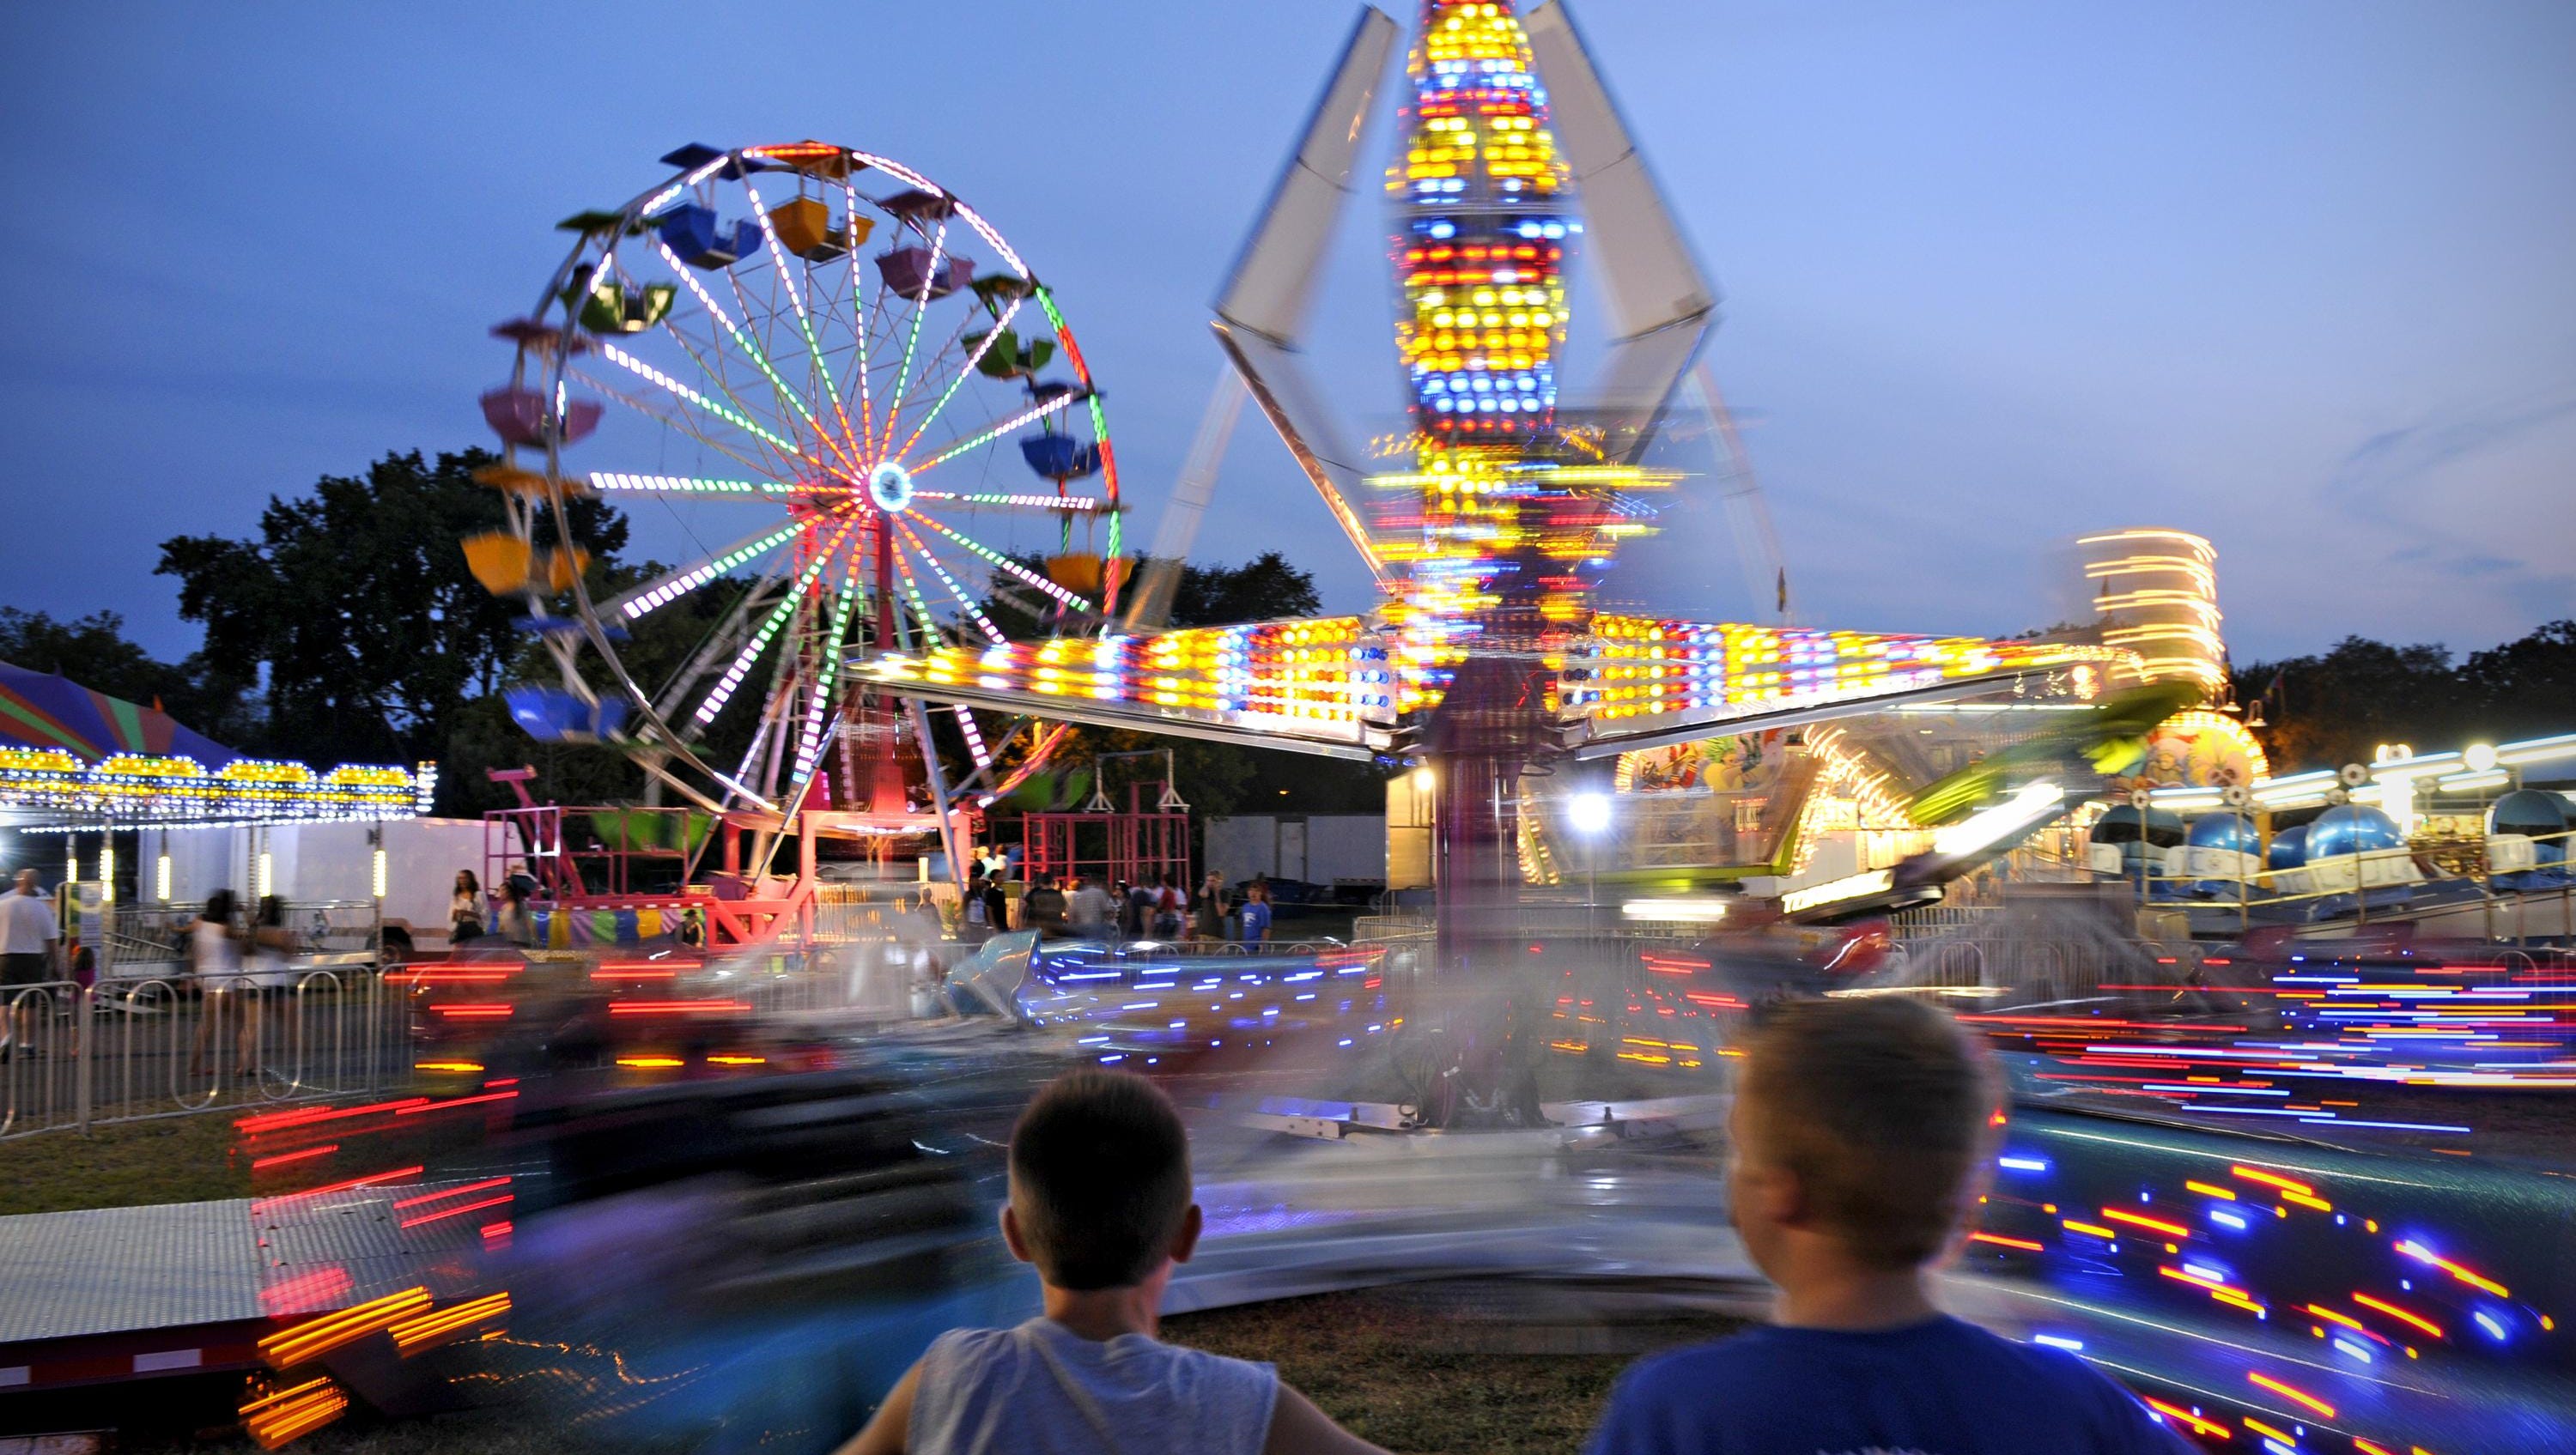
[[[412,1079],[410,997],[374,963],[46,981],[8,986],[0,1004],[0,1138],[384,1092]]]

